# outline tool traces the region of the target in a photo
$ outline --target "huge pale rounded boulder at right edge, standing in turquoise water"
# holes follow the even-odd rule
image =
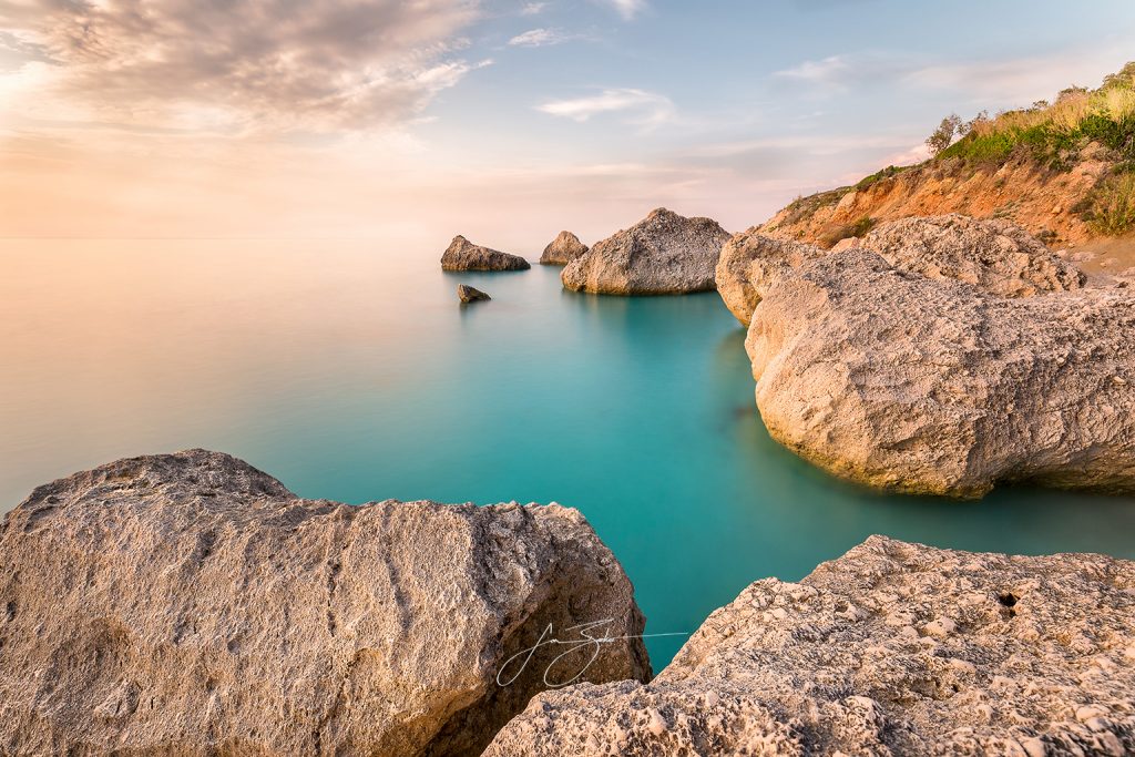
[[[1135,293],[1006,298],[854,249],[773,277],[746,348],[770,434],[899,491],[1135,490]]]

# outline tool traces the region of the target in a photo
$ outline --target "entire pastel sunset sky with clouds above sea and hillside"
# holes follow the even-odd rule
[[[0,0],[0,237],[742,230],[1133,39],[1130,0]]]

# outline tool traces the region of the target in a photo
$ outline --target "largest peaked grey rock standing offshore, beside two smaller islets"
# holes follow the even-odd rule
[[[729,234],[708,218],[658,208],[629,229],[596,242],[560,275],[564,287],[600,294],[684,294],[714,288]]]

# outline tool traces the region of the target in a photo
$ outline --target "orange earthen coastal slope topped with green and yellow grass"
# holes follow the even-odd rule
[[[962,213],[1011,220],[1057,247],[1135,247],[1135,64],[1051,103],[945,119],[927,143],[932,159],[800,197],[763,234],[830,247],[886,221]]]

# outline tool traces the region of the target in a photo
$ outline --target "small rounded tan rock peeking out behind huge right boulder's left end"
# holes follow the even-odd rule
[[[734,234],[721,250],[717,261],[717,293],[729,311],[748,326],[753,310],[760,302],[758,289],[782,266],[799,268],[827,254],[823,247],[765,236],[760,227]]]

